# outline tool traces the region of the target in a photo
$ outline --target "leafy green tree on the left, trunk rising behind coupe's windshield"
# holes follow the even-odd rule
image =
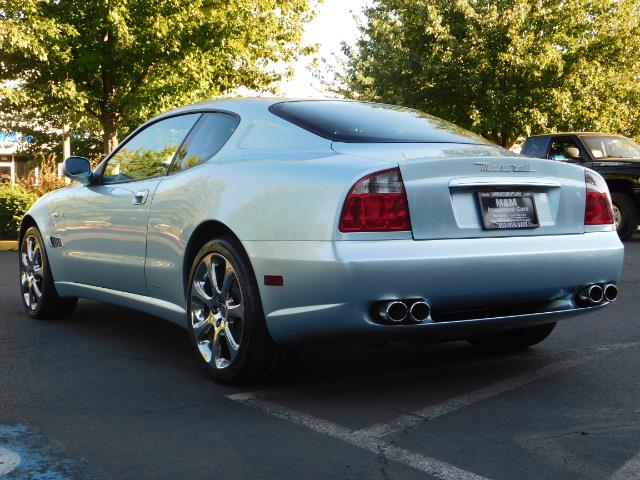
[[[0,108],[58,128],[93,119],[108,152],[162,110],[270,88],[312,2],[0,0]]]

